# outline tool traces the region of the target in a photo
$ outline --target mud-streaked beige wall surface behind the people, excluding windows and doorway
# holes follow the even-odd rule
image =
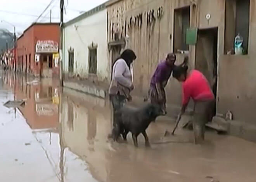
[[[150,9],[164,7],[164,15],[161,19],[156,19],[153,24],[146,25],[143,16],[142,27],[127,28],[122,36],[126,34],[130,37],[130,48],[138,55],[133,68],[135,92],[137,94],[147,94],[150,77],[156,68],[159,60],[163,60],[166,53],[173,50],[173,41],[170,34],[173,35],[173,13],[174,9],[190,5],[190,27],[199,29],[208,29],[218,27],[218,46],[217,46],[217,114],[225,114],[228,110],[234,114],[234,119],[253,123],[256,114],[254,114],[254,105],[256,103],[256,2],[250,1],[250,27],[249,27],[249,53],[246,56],[224,55],[224,44],[226,40],[227,48],[225,52],[232,47],[230,39],[234,39],[232,29],[226,32],[225,39],[225,0],[196,0],[197,6],[190,5],[190,0],[121,0],[108,7],[109,14],[109,36],[112,39],[111,26],[113,23],[125,25],[125,20],[131,16],[138,15]],[[229,9],[234,9],[232,4],[228,4]],[[118,12],[117,12],[118,10]],[[122,10],[122,11],[120,11]],[[122,12],[122,14],[120,13]],[[118,16],[117,16],[118,14]],[[211,18],[206,19],[210,14]],[[234,12],[229,12],[228,26],[234,26]],[[125,30],[125,29],[124,29]],[[234,30],[233,30],[234,31]],[[202,43],[204,44],[204,43]],[[206,43],[207,44],[207,43]],[[202,45],[202,56],[207,58],[209,51],[204,50],[209,46]],[[194,68],[196,51],[195,46],[189,46],[190,68]],[[183,55],[177,54],[177,63],[182,62]],[[201,61],[207,59],[201,59]],[[203,63],[204,64],[204,63]],[[180,105],[181,85],[173,78],[166,86],[168,94],[168,103]]]

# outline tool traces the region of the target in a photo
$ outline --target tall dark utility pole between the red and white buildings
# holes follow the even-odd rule
[[[63,87],[63,73],[62,73],[62,34],[63,34],[63,8],[64,8],[64,0],[61,0],[61,3],[60,3],[60,9],[61,9],[61,22],[60,22],[60,34],[61,34],[61,37],[60,37],[60,43],[59,43],[59,77],[60,77],[60,80],[61,80],[61,86]]]

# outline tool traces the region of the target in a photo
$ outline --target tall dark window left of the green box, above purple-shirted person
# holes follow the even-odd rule
[[[186,32],[190,25],[190,7],[174,10],[173,52],[188,51]]]

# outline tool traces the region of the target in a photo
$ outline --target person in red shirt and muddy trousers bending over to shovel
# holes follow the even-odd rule
[[[204,140],[205,124],[208,122],[209,111],[214,101],[214,94],[208,80],[198,70],[187,73],[187,66],[177,66],[173,69],[173,77],[182,82],[182,109],[181,117],[189,104],[190,98],[194,100],[193,130],[195,143]]]

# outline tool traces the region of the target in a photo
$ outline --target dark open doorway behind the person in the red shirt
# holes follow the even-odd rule
[[[217,95],[217,47],[218,27],[199,29],[195,51],[195,69],[201,71],[211,85],[213,94]],[[209,121],[216,115],[216,102],[212,107]]]

